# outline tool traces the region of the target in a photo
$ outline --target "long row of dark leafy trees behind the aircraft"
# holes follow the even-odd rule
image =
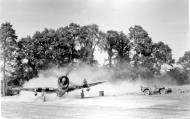
[[[45,28],[18,39],[11,23],[6,22],[1,24],[0,34],[1,59],[6,61],[4,68],[9,85],[21,86],[37,77],[40,70],[52,66],[65,67],[78,62],[97,65],[98,61],[94,58],[96,48],[108,54],[108,63],[104,67],[130,69],[133,79],[142,74],[141,69],[154,77],[160,75],[163,64],[172,66],[175,63],[172,49],[162,41],[153,42],[148,32],[139,25],[131,26],[125,34],[115,30],[103,32],[96,24],[80,26],[70,23],[58,29]],[[190,64],[189,56],[187,52],[178,61],[186,69],[185,63]],[[168,74],[176,74],[176,70]]]

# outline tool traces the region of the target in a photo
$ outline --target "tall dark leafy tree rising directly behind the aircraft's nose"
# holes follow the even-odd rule
[[[58,41],[55,49],[61,50],[60,48],[62,48],[62,51],[64,50],[66,63],[73,63],[74,59],[79,58],[79,53],[76,49],[79,33],[80,26],[75,23],[71,23],[64,28],[61,27],[56,31]],[[60,56],[60,54],[58,55]]]

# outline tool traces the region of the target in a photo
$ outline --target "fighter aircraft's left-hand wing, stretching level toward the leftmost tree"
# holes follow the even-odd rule
[[[51,88],[51,87],[35,87],[35,88],[12,88],[13,90],[19,90],[19,91],[30,91],[30,92],[47,92],[47,93],[53,93],[56,92],[57,88]]]

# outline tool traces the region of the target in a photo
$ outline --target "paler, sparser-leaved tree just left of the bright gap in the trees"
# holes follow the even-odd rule
[[[102,40],[102,32],[99,30],[96,24],[82,26],[79,34],[79,52],[80,59],[82,62],[87,64],[93,64],[94,51]]]

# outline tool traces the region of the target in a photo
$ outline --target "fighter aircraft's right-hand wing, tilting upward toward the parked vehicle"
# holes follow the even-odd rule
[[[73,86],[69,86],[67,92],[71,92],[77,89],[82,89],[82,88],[89,88],[95,85],[99,85],[104,83],[105,81],[101,81],[101,82],[95,82],[95,83],[89,83],[88,85],[73,85]]]

